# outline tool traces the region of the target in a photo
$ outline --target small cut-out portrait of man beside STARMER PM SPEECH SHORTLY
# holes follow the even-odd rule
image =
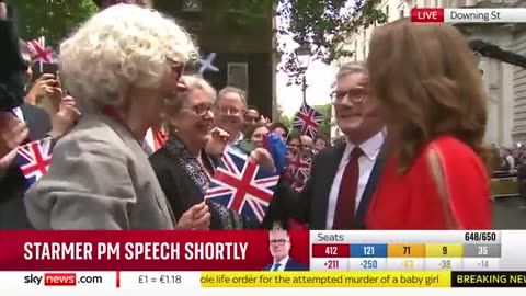
[[[309,266],[289,257],[290,236],[286,230],[271,230],[271,254],[273,262],[264,271],[308,271]]]

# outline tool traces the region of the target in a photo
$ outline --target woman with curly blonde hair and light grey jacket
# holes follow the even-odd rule
[[[163,99],[196,55],[173,21],[137,5],[94,15],[60,46],[62,83],[82,112],[25,195],[36,229],[201,229],[201,204],[178,223],[141,148]]]

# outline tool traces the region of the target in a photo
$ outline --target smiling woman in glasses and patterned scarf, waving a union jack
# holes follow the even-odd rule
[[[202,78],[185,76],[183,80],[188,90],[167,100],[169,139],[164,147],[150,157],[176,218],[192,206],[203,203],[218,164],[218,158],[210,155],[220,155],[229,139],[226,132],[211,129],[211,110],[217,96],[214,88]],[[209,153],[211,150],[215,151]],[[206,204],[210,206],[213,230],[259,227],[256,223],[221,205]]]

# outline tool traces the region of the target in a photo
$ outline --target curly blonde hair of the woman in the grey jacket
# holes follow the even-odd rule
[[[85,111],[125,104],[130,86],[156,88],[173,64],[196,59],[186,31],[161,13],[134,4],[110,7],[60,45],[61,81]]]

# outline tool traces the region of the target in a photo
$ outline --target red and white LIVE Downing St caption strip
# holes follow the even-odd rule
[[[415,23],[526,23],[525,8],[416,8],[411,10]]]

